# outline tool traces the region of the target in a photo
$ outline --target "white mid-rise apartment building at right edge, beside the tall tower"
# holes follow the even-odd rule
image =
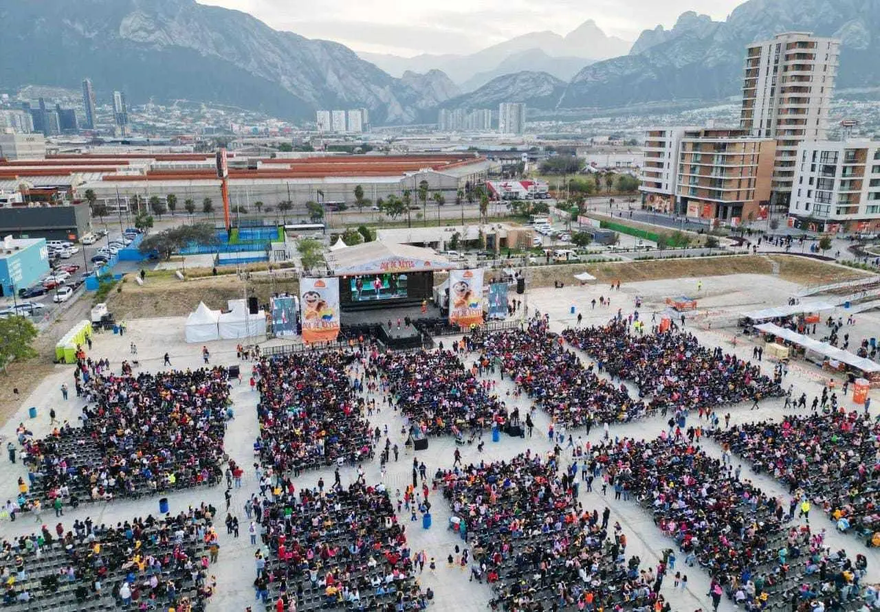
[[[880,142],[802,142],[788,213],[803,229],[880,230]]]

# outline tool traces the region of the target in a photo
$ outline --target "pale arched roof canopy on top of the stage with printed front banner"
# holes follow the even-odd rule
[[[457,267],[434,249],[378,241],[355,244],[330,252],[327,254],[327,266],[334,276],[438,272]]]

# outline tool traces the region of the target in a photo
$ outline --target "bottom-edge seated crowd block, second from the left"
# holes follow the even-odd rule
[[[383,485],[292,488],[255,508],[262,549],[254,587],[283,610],[427,608],[416,558]],[[265,555],[264,555],[265,552]],[[265,559],[260,563],[259,558]]]

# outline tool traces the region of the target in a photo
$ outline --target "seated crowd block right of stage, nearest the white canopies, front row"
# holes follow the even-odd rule
[[[562,336],[598,360],[598,368],[632,381],[639,397],[669,412],[698,411],[721,404],[784,395],[778,381],[762,375],[751,361],[700,345],[688,332],[633,334],[627,319],[568,329]]]

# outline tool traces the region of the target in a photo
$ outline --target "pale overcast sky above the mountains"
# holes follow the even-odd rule
[[[336,40],[356,51],[466,54],[520,34],[566,34],[587,19],[635,40],[684,11],[723,19],[744,0],[198,0],[246,11],[276,30]]]

